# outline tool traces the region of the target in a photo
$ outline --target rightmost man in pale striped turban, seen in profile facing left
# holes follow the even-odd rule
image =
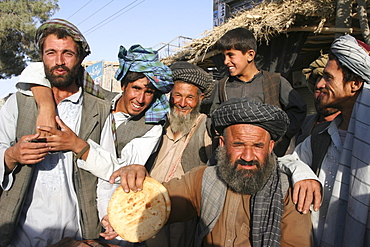
[[[317,89],[321,106],[341,114],[282,159],[314,167],[323,157],[313,168],[324,185],[322,206],[312,213],[315,246],[370,245],[369,83],[368,53],[350,35],[336,39]],[[312,150],[312,142],[323,145]]]

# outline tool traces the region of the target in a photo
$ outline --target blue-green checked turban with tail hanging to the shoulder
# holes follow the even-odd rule
[[[158,123],[165,119],[169,111],[166,93],[173,87],[171,69],[161,63],[158,52],[141,45],[133,45],[127,51],[121,46],[118,53],[119,68],[116,79],[121,81],[128,71],[144,73],[153,86],[161,93],[145,112],[146,123]]]

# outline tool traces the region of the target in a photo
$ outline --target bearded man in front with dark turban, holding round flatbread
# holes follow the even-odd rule
[[[276,106],[249,100],[231,99],[214,112],[222,133],[216,166],[164,184],[171,199],[168,223],[199,217],[194,246],[311,246],[310,216],[295,209],[273,153],[289,119]],[[142,166],[124,173],[125,191],[142,188]]]

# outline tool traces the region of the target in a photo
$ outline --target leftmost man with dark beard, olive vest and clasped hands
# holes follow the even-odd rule
[[[44,139],[33,134],[38,112],[33,97],[17,93],[1,109],[1,246],[98,238],[112,187],[79,168],[96,151],[93,142],[114,152],[109,103],[81,88],[89,45],[77,27],[61,19],[42,24],[36,43],[61,129],[44,127],[50,134]]]

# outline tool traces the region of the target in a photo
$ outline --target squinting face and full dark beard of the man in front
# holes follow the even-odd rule
[[[217,149],[217,174],[236,193],[253,195],[263,188],[275,169],[274,141],[257,126],[228,127]]]

